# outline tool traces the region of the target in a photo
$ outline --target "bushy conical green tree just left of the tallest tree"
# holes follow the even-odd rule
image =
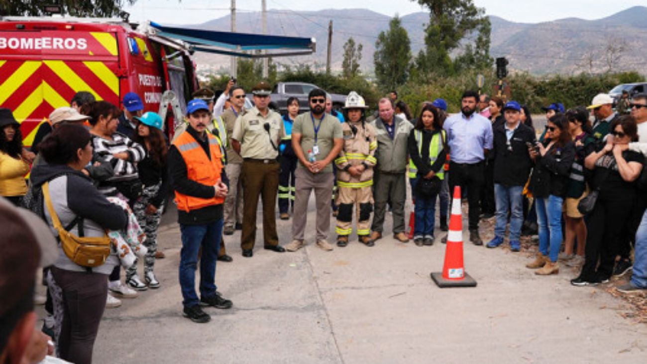
[[[389,30],[380,32],[375,41],[373,63],[378,85],[391,91],[404,84],[409,76],[410,59],[409,35],[396,15],[389,22]]]

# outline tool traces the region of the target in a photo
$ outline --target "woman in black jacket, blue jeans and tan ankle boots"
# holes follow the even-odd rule
[[[529,189],[535,201],[539,223],[539,253],[526,267],[538,269],[536,275],[557,274],[562,246],[562,205],[566,196],[575,144],[571,141],[568,120],[562,113],[553,115],[546,126],[545,141],[529,147],[534,159]]]

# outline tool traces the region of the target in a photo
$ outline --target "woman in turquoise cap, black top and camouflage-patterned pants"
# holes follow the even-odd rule
[[[133,212],[137,216],[140,227],[146,233],[144,246],[148,249],[144,259],[144,282],[137,275],[137,260],[126,271],[126,282],[133,288],[159,288],[160,284],[153,267],[155,266],[155,253],[157,252],[157,228],[162,218],[164,200],[169,193],[168,173],[166,172],[166,139],[162,133],[162,118],[149,111],[141,117],[134,117],[137,129],[133,141],[144,146],[146,157],[137,164],[139,180],[144,185]],[[137,288],[136,288],[137,289]]]

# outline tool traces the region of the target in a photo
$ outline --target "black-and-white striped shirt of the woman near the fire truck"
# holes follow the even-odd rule
[[[99,186],[99,190],[105,195],[113,195],[116,192],[115,183],[132,181],[138,178],[137,162],[146,157],[146,150],[140,144],[133,142],[122,133],[114,133],[113,139],[108,140],[98,135],[92,136],[94,153],[108,161],[113,166],[115,175],[106,179]],[[113,154],[126,152],[129,157],[127,161],[113,157]]]

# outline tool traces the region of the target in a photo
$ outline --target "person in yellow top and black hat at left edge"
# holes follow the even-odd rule
[[[25,194],[29,164],[23,159],[23,135],[10,109],[0,109],[0,196],[18,206]]]

